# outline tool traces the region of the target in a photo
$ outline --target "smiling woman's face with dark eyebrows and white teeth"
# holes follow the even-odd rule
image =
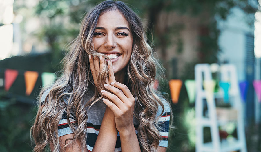
[[[119,10],[105,12],[98,18],[93,36],[94,49],[111,58],[114,73],[124,69],[130,61],[133,42],[130,30]]]

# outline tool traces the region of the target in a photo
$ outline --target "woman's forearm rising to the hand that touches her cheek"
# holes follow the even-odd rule
[[[115,150],[118,131],[115,127],[115,118],[110,108],[106,107],[99,134],[92,152],[112,152]]]

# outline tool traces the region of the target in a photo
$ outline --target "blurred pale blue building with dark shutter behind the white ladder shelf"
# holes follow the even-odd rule
[[[256,4],[257,5],[257,4]],[[254,14],[246,14],[240,8],[232,8],[226,21],[218,21],[220,29],[219,62],[234,64],[237,68],[238,81],[248,81],[247,100],[244,103],[246,123],[255,118],[255,92],[252,85],[255,79],[254,55]]]

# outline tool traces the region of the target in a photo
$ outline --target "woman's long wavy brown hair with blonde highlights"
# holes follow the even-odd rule
[[[157,124],[157,111],[159,106],[164,111],[161,93],[154,89],[153,83],[156,76],[163,74],[162,66],[153,56],[153,49],[148,45],[146,32],[141,19],[126,4],[121,1],[104,1],[97,5],[84,17],[80,33],[70,44],[67,55],[62,60],[64,67],[62,75],[52,86],[42,88],[39,99],[43,93],[50,89],[41,106],[39,101],[39,110],[35,118],[35,123],[31,128],[31,135],[35,141],[34,151],[42,152],[45,147],[52,143],[54,152],[60,151],[58,138],[58,123],[63,112],[68,113],[68,125],[73,130],[73,140],[81,141],[81,147],[86,146],[86,128],[87,128],[87,106],[92,106],[102,99],[100,91],[108,76],[108,66],[106,65],[97,78],[101,82],[96,86],[94,96],[85,104],[84,94],[94,84],[90,71],[89,54],[100,55],[107,58],[106,55],[97,53],[93,48],[92,38],[99,16],[110,10],[119,10],[128,21],[133,35],[133,48],[131,59],[125,68],[126,85],[135,97],[134,115],[139,121],[138,138],[142,151],[155,152],[161,140],[159,127]],[[107,58],[109,59],[109,58]],[[109,59],[110,60],[110,59]],[[156,74],[157,73],[157,74]],[[160,76],[157,79],[160,79]],[[68,97],[68,103],[63,99]],[[39,100],[38,99],[38,100]],[[42,112],[43,108],[45,111]],[[69,114],[73,113],[76,121],[70,122]]]

